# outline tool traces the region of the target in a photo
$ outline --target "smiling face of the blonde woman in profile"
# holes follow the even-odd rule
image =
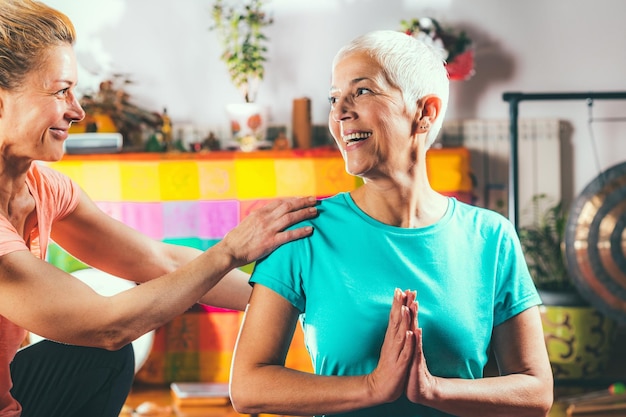
[[[51,47],[43,62],[17,90],[0,89],[0,152],[5,159],[61,159],[71,123],[85,116],[74,95],[72,46]]]

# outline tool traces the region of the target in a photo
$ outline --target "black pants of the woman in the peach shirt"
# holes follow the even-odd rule
[[[17,352],[11,394],[22,417],[117,417],[130,392],[135,355],[49,340]]]

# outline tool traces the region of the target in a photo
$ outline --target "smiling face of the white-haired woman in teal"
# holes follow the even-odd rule
[[[329,100],[328,125],[348,173],[374,179],[402,169],[414,115],[374,59],[354,52],[337,62]]]

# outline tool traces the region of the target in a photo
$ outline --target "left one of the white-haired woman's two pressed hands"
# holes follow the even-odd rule
[[[414,291],[394,292],[389,324],[376,369],[368,375],[370,395],[378,403],[397,400],[406,390],[409,369],[415,352],[413,336],[417,311]]]

